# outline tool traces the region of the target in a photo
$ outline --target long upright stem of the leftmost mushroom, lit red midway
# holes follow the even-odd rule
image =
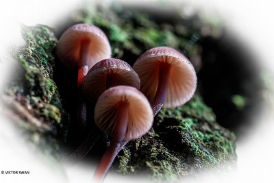
[[[82,40],[80,47],[80,60],[81,64],[78,67],[78,80],[77,80],[77,122],[80,127],[86,127],[86,103],[82,92],[82,84],[86,74],[88,73],[88,49],[90,40]],[[82,131],[82,130],[81,130]]]

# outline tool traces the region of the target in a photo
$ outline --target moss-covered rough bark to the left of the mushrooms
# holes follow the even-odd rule
[[[53,80],[58,40],[53,29],[45,25],[23,26],[22,35],[26,45],[15,51],[13,56],[21,64],[20,73],[23,73],[23,76],[14,78],[5,93],[21,103],[32,118],[42,124],[38,127],[32,126],[29,119],[23,118],[23,123],[32,126],[23,127],[27,138],[44,152],[47,151],[47,154],[60,158],[58,140],[64,141],[66,138],[68,116],[62,108],[58,88]],[[25,114],[19,112],[18,115]],[[41,130],[43,126],[47,129]]]

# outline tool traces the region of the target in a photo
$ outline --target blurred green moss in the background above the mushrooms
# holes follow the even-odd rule
[[[194,34],[196,37],[191,39],[192,34],[185,31],[182,38],[182,26],[176,32],[173,26],[157,25],[149,20],[148,14],[141,12],[123,10],[123,13],[116,14],[110,10],[101,10],[95,14],[83,11],[75,14],[73,18],[77,22],[92,23],[101,27],[110,39],[114,58],[123,58],[125,53],[135,58],[147,49],[157,46],[187,48],[187,56],[195,56],[198,53],[194,41],[199,37],[198,34]]]

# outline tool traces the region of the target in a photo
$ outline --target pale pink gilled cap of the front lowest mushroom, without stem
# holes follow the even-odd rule
[[[123,101],[128,103],[125,140],[132,140],[147,133],[153,123],[153,112],[149,101],[132,86],[114,86],[105,90],[95,106],[95,123],[112,136],[117,123],[118,106]]]

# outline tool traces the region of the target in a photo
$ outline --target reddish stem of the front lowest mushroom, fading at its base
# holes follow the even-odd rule
[[[119,103],[119,112],[118,119],[116,122],[116,127],[114,128],[114,135],[110,146],[105,151],[105,154],[101,158],[101,161],[95,171],[93,178],[99,182],[102,182],[105,178],[105,175],[108,173],[108,170],[111,167],[111,164],[122,149],[122,147],[127,143],[124,141],[125,133],[127,132],[127,120],[128,120],[128,103],[123,101]]]

